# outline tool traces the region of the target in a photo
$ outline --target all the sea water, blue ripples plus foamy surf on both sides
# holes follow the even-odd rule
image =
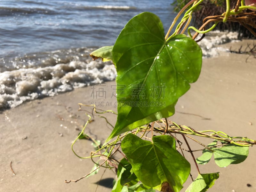
[[[172,0],[9,0],[0,1],[0,110],[77,87],[114,80],[110,62],[89,53],[113,45],[124,25],[148,11],[165,31],[175,13]],[[204,57],[236,33],[214,32],[200,46]]]

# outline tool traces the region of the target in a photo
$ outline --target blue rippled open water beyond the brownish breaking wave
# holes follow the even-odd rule
[[[0,57],[71,47],[112,45],[136,14],[153,12],[165,28],[172,1],[10,0],[0,2]]]

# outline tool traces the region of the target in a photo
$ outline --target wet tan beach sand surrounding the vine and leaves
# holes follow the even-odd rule
[[[237,49],[242,43],[223,46]],[[219,57],[204,59],[201,76],[180,98],[176,114],[169,119],[197,130],[221,130],[230,136],[256,139],[256,60],[253,56],[247,57],[221,53]],[[80,88],[3,111],[0,114],[0,191],[110,192],[115,178],[111,170],[104,172],[104,169],[100,169],[97,175],[76,183],[67,184],[64,181],[86,175],[93,166],[90,159],[80,159],[71,150],[71,143],[88,120],[86,111],[78,111],[78,103],[101,104],[101,109],[116,111],[116,98],[112,95],[114,86],[115,82],[107,82],[95,89]],[[106,116],[115,124],[116,115]],[[205,120],[204,117],[209,119]],[[111,127],[104,119],[95,116],[85,132],[94,139],[104,141]],[[202,141],[204,144],[211,142],[210,139]],[[190,143],[193,150],[201,148],[196,143]],[[93,147],[88,140],[78,140],[74,149],[80,156],[89,156]],[[200,153],[195,153],[195,156]],[[188,158],[191,160],[191,157]],[[255,158],[256,148],[252,147],[248,158],[241,164],[219,168],[211,161],[200,165],[201,173],[220,172],[220,178],[208,191],[256,191]],[[15,175],[11,170],[11,162]],[[196,178],[192,162],[191,167]],[[184,188],[190,182],[188,178]],[[251,187],[247,187],[247,184]]]

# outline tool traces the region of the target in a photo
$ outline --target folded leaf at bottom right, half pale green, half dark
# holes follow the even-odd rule
[[[205,192],[214,185],[215,180],[218,178],[219,173],[199,174],[185,192]]]

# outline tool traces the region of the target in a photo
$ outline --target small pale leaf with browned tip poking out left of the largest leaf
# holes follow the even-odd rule
[[[113,60],[112,49],[113,49],[113,45],[101,47],[101,48],[91,52],[90,56],[92,57],[93,60],[101,58],[101,60],[103,62]]]

